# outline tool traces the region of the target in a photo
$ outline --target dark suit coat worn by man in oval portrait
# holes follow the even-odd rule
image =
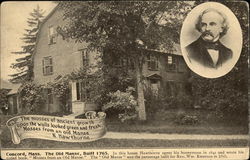
[[[196,61],[204,67],[218,68],[232,58],[232,50],[225,47],[219,40],[216,44],[212,44],[212,46],[219,51],[219,58],[216,65],[214,65],[207,51],[207,49],[211,48],[211,43],[205,42],[201,37],[186,47],[187,56],[190,62]]]

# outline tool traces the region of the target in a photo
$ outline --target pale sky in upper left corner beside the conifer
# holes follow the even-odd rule
[[[15,59],[20,55],[11,52],[21,51],[23,45],[20,39],[27,28],[29,13],[37,7],[45,11],[46,16],[56,6],[52,1],[16,1],[1,3],[1,52],[0,52],[0,75],[1,80],[10,79],[8,75],[16,73],[10,68]]]

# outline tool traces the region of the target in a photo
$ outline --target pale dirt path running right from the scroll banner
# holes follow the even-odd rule
[[[126,133],[107,132],[104,138],[110,139],[162,139],[162,140],[227,140],[248,139],[249,135],[189,135],[189,134],[158,134],[158,133]]]

